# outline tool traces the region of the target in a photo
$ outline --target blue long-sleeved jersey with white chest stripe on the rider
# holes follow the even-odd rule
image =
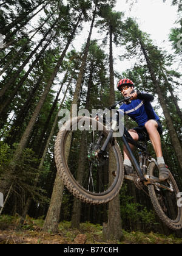
[[[121,105],[120,113],[130,116],[139,127],[144,126],[150,119],[160,120],[150,103],[153,100],[153,96],[143,92],[140,98],[131,101],[130,104]]]

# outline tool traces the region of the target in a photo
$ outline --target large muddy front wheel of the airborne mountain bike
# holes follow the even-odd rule
[[[62,182],[73,196],[89,204],[111,201],[123,183],[123,158],[115,138],[99,154],[108,134],[96,119],[77,116],[56,137],[55,162]]]

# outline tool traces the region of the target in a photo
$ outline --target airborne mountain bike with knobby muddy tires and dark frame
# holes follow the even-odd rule
[[[129,98],[116,102],[109,109],[114,110],[126,100]],[[135,167],[133,176],[124,174],[123,156],[117,136],[113,136],[117,134],[119,119],[120,112],[116,110],[106,124],[90,116],[76,116],[66,121],[55,142],[56,168],[62,182],[82,202],[98,205],[114,199],[124,179],[131,180],[138,189],[147,188],[153,208],[166,226],[172,230],[181,229],[180,191],[174,176],[170,172],[169,179],[160,181],[158,163],[147,149],[147,137],[144,145],[136,143],[123,124],[118,133]],[[129,143],[138,149],[138,161]]]

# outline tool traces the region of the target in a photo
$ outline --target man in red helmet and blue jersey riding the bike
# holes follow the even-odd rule
[[[135,91],[134,84],[130,79],[121,79],[118,83],[118,90],[121,91],[124,98],[132,97],[128,102],[121,105],[120,111],[123,114],[130,116],[138,127],[129,130],[130,135],[135,141],[143,141],[145,139],[144,133],[152,142],[153,149],[157,155],[157,162],[160,169],[159,179],[161,181],[168,179],[169,169],[164,163],[163,152],[161,149],[160,135],[163,133],[160,118],[153,110],[150,104],[154,97],[151,94]],[[134,146],[129,144],[133,150]],[[130,162],[129,153],[124,146],[124,169],[127,175],[133,175],[133,167]]]

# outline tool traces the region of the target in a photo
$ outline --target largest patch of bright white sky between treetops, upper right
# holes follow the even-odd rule
[[[168,40],[170,29],[177,21],[178,8],[171,3],[172,0],[166,0],[165,3],[163,0],[138,0],[130,11],[126,0],[118,0],[115,10],[137,18],[140,29],[150,34],[152,40],[156,40],[162,46],[163,40]]]

